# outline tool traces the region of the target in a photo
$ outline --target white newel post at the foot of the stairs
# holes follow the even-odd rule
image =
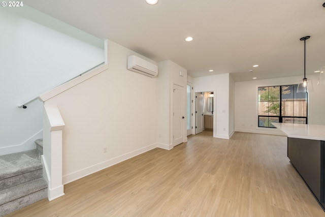
[[[43,177],[48,182],[48,199],[64,195],[62,184],[62,130],[64,121],[56,105],[44,104]]]

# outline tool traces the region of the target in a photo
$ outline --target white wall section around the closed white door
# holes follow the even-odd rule
[[[184,115],[186,116],[186,85],[187,70],[175,64],[171,60],[158,63],[158,85],[157,85],[157,142],[158,146],[165,149],[172,148],[173,128],[172,128],[172,109],[173,109],[173,84],[184,87],[183,105]],[[180,76],[180,72],[183,76]],[[187,117],[186,117],[187,118]],[[183,119],[184,129],[183,142],[186,137],[186,118]]]

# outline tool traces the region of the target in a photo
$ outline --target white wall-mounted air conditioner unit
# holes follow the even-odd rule
[[[127,69],[149,76],[151,78],[156,77],[158,75],[158,66],[136,55],[127,57]]]

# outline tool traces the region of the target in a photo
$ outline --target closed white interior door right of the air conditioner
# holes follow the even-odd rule
[[[183,91],[184,87],[173,85],[173,146],[182,143],[184,138]]]

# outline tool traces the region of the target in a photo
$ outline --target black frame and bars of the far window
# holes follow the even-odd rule
[[[287,85],[272,85],[272,86],[258,86],[257,87],[257,94],[258,94],[258,89],[259,88],[266,88],[266,87],[279,87],[279,91],[280,91],[280,97],[279,97],[279,103],[280,103],[280,106],[279,106],[279,110],[280,110],[280,115],[259,115],[259,112],[258,112],[258,107],[259,107],[259,100],[257,100],[257,127],[259,128],[276,128],[274,126],[272,127],[266,127],[266,126],[259,126],[259,123],[260,123],[260,119],[259,117],[276,117],[279,119],[279,123],[282,123],[283,121],[283,118],[305,118],[306,119],[306,123],[308,123],[308,92],[306,92],[306,116],[286,116],[286,115],[282,115],[282,87],[283,86],[297,86],[298,87],[298,84],[287,84]],[[293,88],[293,90],[296,90],[295,88]],[[295,91],[294,91],[295,92]],[[295,99],[295,98],[294,98]],[[270,102],[270,101],[268,101]]]

